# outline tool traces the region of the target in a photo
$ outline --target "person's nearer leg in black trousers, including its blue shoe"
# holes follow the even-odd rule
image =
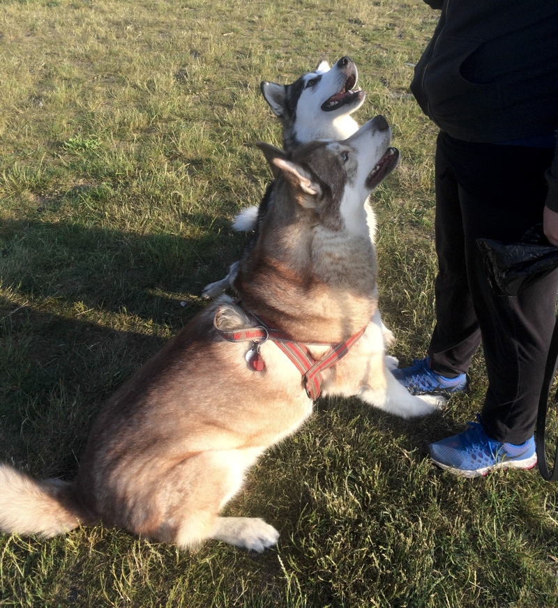
[[[555,324],[558,273],[521,296],[497,296],[476,239],[519,242],[527,229],[542,221],[544,170],[551,159],[552,151],[480,144],[474,158],[469,158],[477,165],[476,181],[469,170],[460,175],[463,165],[457,165],[467,278],[483,337],[489,386],[480,424],[431,444],[430,454],[440,466],[462,475],[484,474],[498,466],[530,468],[536,463],[533,432]]]

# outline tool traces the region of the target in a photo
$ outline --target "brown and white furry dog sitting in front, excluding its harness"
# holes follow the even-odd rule
[[[409,417],[441,402],[393,379],[375,314],[364,203],[398,160],[390,137],[377,116],[343,142],[313,142],[291,156],[260,144],[275,199],[235,287],[246,310],[307,344],[336,344],[366,327],[324,372],[322,392]],[[218,516],[246,469],[312,411],[275,342],[262,344],[265,368],[256,372],[246,363],[250,342],[227,342],[215,328],[255,324],[228,296],[198,314],[105,404],[73,482],[35,481],[1,465],[0,529],[52,536],[103,522],[179,547],[206,539],[273,545],[278,532],[262,519]],[[315,358],[327,349],[308,348]]]

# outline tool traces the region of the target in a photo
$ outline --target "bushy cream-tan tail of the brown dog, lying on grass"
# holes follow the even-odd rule
[[[68,532],[80,522],[72,484],[59,479],[33,480],[0,464],[0,530],[48,538]]]

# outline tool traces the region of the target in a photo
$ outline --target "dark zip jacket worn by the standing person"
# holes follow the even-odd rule
[[[425,2],[442,15],[411,90],[439,128],[487,143],[558,128],[557,0]],[[547,179],[558,211],[558,162]]]

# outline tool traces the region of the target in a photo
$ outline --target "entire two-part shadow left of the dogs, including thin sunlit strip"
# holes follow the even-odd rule
[[[243,235],[203,232],[0,222],[0,461],[73,478],[101,404],[239,256]]]

